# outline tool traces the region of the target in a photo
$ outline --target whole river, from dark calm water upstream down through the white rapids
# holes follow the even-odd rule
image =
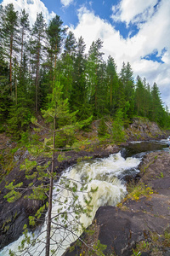
[[[169,150],[167,140],[130,143],[117,154],[111,154],[105,159],[82,161],[63,172],[59,183],[55,183],[54,186],[52,244],[50,247],[54,252],[53,255],[62,255],[71,242],[77,240],[77,237],[82,234],[81,224],[87,228],[92,223],[100,206],[116,206],[122,201],[127,194],[124,177],[126,175],[136,176],[144,154],[156,150]],[[84,181],[87,186],[83,187]],[[70,189],[70,187],[74,189]],[[92,189],[97,190],[91,193]],[[92,197],[90,201],[92,207],[86,214],[81,209],[89,208],[87,205],[88,195]],[[69,213],[60,214],[60,212]],[[75,212],[77,213],[75,214]],[[35,246],[29,247],[28,252],[26,250],[24,253],[18,252],[18,246],[23,239],[23,236],[20,236],[17,241],[4,247],[0,256],[8,256],[10,249],[16,255],[45,255],[45,230],[45,223],[41,229],[36,230],[35,237],[38,238],[38,242]],[[29,235],[33,239],[32,235]]]

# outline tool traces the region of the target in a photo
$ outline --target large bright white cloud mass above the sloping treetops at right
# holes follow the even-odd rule
[[[129,2],[130,1],[130,2]],[[134,3],[138,1],[139,7],[134,9]],[[115,58],[117,64],[117,71],[119,72],[122,67],[122,61],[129,61],[134,75],[146,78],[147,82],[152,85],[154,82],[159,86],[163,102],[165,102],[170,109],[170,1],[161,0],[156,12],[153,12],[153,6],[157,3],[155,0],[148,0],[147,3],[143,0],[123,0],[122,3],[132,3],[131,8],[127,5],[122,5],[124,12],[124,20],[137,20],[138,14],[144,14],[147,7],[150,8],[150,15],[145,15],[145,22],[140,24],[139,32],[133,38],[122,38],[120,32],[116,31],[114,26],[106,20],[102,20],[99,16],[94,15],[86,8],[78,10],[79,23],[76,27],[71,27],[76,38],[82,36],[87,45],[87,50],[93,41],[101,38],[104,42],[103,51],[105,52],[105,60],[108,55]],[[153,3],[153,4],[151,4]],[[137,4],[138,5],[138,4]],[[115,7],[115,11],[118,7]],[[126,15],[126,11],[131,10]],[[122,13],[120,13],[122,15]],[[117,19],[122,19],[118,17]],[[162,49],[167,49],[162,54]],[[150,55],[154,50],[157,50],[157,56],[161,56],[161,61],[165,63],[144,60],[145,55]]]

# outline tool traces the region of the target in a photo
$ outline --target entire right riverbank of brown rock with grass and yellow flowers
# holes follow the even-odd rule
[[[98,240],[105,244],[105,255],[170,255],[170,154],[147,154],[139,168],[136,194],[128,195],[117,207],[99,207],[95,239],[85,238],[90,247]],[[141,186],[145,186],[144,195],[138,195]],[[79,247],[65,256],[88,255],[83,250]]]

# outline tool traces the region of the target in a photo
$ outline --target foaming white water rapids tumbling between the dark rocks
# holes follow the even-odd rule
[[[71,242],[76,241],[77,237],[82,234],[82,228],[78,225],[81,222],[84,227],[88,227],[92,223],[95,213],[100,206],[116,206],[122,198],[126,195],[127,190],[124,183],[118,179],[122,172],[132,169],[132,172],[138,172],[136,168],[139,166],[140,159],[128,157],[126,160],[121,156],[121,153],[111,154],[108,158],[98,160],[83,161],[76,166],[67,169],[63,173],[63,177],[71,181],[77,181],[77,191],[75,195],[78,196],[78,204],[82,207],[87,207],[84,201],[84,196],[88,195],[91,189],[97,189],[92,193],[92,201],[90,205],[93,206],[90,217],[86,214],[80,214],[80,218],[75,218],[74,205],[71,207],[71,202],[74,202],[76,209],[76,201],[72,198],[72,193],[69,189],[65,189],[64,185],[59,183],[55,184],[54,189],[54,205],[52,218],[54,221],[51,231],[52,244],[50,249],[54,250],[53,255],[62,255],[66,248],[69,247]],[[81,190],[81,183],[84,177],[87,178],[86,191]],[[74,182],[73,182],[74,183]],[[64,204],[65,201],[65,204]],[[68,219],[66,215],[64,218],[58,218],[58,212],[69,212]],[[57,218],[57,219],[55,219]],[[21,236],[17,241],[4,247],[0,252],[0,256],[8,256],[8,252],[11,249],[16,252],[16,255],[45,255],[45,233],[46,224],[43,224],[41,230],[37,230],[35,236],[38,236],[39,242],[34,247],[30,247],[29,253],[17,253],[18,246],[23,239]]]

